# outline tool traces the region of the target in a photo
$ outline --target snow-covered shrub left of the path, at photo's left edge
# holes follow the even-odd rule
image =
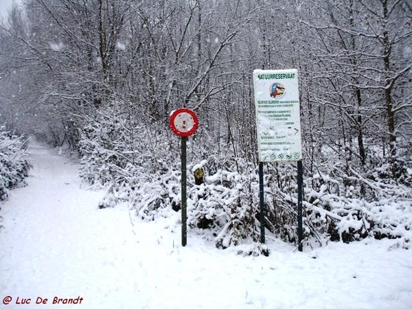
[[[0,201],[8,197],[8,190],[26,185],[30,170],[27,145],[23,137],[0,128]]]

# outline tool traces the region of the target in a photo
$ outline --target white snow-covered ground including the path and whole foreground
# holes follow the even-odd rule
[[[1,205],[1,309],[412,308],[412,253],[393,242],[299,253],[269,240],[271,255],[254,258],[189,231],[181,247],[179,214],[98,209],[103,192],[81,190],[76,165],[36,144],[32,163],[29,185]]]

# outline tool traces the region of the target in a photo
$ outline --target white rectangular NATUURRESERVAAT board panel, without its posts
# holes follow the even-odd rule
[[[256,121],[260,162],[302,158],[297,69],[255,70]]]

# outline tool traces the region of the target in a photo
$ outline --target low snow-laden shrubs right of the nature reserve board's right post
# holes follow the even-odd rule
[[[380,176],[367,179],[354,169],[351,174],[342,173],[335,179],[319,173],[307,179],[307,183],[318,184],[306,187],[304,205],[309,235],[317,236],[321,243],[402,238],[403,247],[411,246],[411,187],[388,184]],[[350,180],[350,186],[344,185],[345,179]]]

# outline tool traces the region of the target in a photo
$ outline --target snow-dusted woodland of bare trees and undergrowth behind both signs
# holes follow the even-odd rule
[[[227,247],[260,228],[253,69],[295,68],[306,239],[400,237],[359,201],[411,207],[411,58],[407,0],[26,0],[0,27],[1,122],[76,150],[84,182],[110,187],[104,205],[152,218],[179,209],[168,118],[194,109],[189,161],[209,183],[192,188],[193,227]],[[295,167],[265,170],[266,226],[295,241]]]

